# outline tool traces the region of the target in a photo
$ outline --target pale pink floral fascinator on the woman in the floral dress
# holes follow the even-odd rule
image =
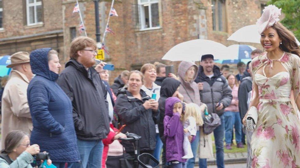
[[[258,32],[262,34],[267,28],[279,21],[281,15],[281,8],[278,9],[275,5],[268,5],[263,9],[262,16],[257,20]]]

